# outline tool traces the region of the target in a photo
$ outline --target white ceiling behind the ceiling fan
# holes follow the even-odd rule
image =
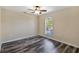
[[[42,14],[46,14],[46,13],[54,12],[67,7],[66,6],[41,6],[41,9],[46,9],[47,12],[42,13]],[[23,12],[23,13],[26,12],[26,13],[33,14],[31,13],[30,10],[28,10],[28,9],[33,9],[33,6],[3,6],[2,8],[17,11],[17,12]]]

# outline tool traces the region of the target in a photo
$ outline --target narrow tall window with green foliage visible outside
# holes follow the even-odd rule
[[[52,19],[52,17],[48,17],[45,19],[45,34],[53,35],[53,19]]]

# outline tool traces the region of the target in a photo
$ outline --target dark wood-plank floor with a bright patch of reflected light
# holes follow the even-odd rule
[[[2,53],[78,53],[79,49],[40,36],[2,44]]]

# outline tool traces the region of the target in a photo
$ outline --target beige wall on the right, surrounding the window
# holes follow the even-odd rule
[[[39,34],[43,36],[46,36],[44,20],[47,16],[54,20],[54,35],[48,36],[49,38],[79,47],[79,7],[69,7],[39,16]]]

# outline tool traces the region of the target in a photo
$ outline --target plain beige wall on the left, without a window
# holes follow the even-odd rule
[[[2,43],[37,35],[37,17],[2,9]]]

